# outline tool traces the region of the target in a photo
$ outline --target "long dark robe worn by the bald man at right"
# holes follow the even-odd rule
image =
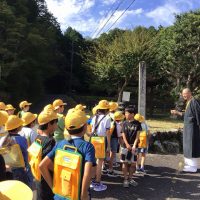
[[[184,113],[183,154],[186,158],[200,157],[200,102],[194,98]]]

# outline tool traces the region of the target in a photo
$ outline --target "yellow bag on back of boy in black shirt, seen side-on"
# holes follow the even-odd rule
[[[39,170],[39,164],[42,160],[42,145],[39,139],[36,139],[36,141],[28,148],[28,156],[32,174],[37,181],[40,181],[41,173]]]

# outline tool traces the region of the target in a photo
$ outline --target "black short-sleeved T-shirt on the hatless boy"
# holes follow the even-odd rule
[[[142,127],[140,122],[134,120],[134,121],[125,121],[122,125],[122,133],[125,134],[127,142],[132,145],[136,139],[137,132],[141,131]],[[124,147],[126,145],[124,144]]]

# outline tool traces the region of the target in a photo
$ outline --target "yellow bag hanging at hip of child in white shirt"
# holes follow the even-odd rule
[[[106,157],[106,143],[104,136],[92,136],[90,142],[95,148],[95,157],[96,158],[105,158]]]

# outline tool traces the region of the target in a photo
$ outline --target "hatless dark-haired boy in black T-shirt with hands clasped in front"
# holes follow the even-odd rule
[[[129,105],[125,108],[125,118],[122,126],[122,137],[124,144],[121,148],[121,161],[122,161],[122,170],[124,174],[123,187],[129,187],[130,185],[137,186],[137,182],[133,179],[133,173],[135,172],[136,167],[136,146],[134,142],[137,136],[137,133],[142,130],[141,124],[134,120],[134,115],[137,113],[136,108],[132,105]]]

